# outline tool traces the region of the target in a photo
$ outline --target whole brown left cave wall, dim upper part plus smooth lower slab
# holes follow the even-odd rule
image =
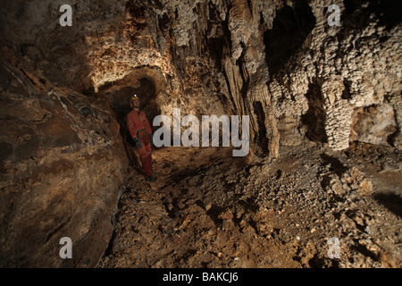
[[[62,4],[0,7],[0,267],[94,267],[127,181],[112,105],[88,97],[86,41],[120,27],[124,5],[80,1],[62,27]],[[63,237],[71,259],[59,256]]]

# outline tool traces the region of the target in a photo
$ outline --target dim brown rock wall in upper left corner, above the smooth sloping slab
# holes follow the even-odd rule
[[[87,59],[91,53],[88,38],[96,38],[123,26],[122,1],[80,0],[71,4],[72,26],[60,25],[63,0],[16,0],[0,6],[2,53],[17,57],[19,63],[37,71],[55,85],[81,91],[92,88]]]

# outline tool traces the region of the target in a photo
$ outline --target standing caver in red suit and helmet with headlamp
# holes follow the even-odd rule
[[[130,135],[138,148],[147,180],[155,181],[152,175],[151,126],[147,120],[147,115],[139,110],[139,98],[136,95],[131,97],[130,105],[133,108],[130,114],[127,114],[127,124],[129,126]]]

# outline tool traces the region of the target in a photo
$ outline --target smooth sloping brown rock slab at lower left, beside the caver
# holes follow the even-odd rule
[[[0,267],[95,266],[127,180],[112,108],[4,63],[0,82]]]

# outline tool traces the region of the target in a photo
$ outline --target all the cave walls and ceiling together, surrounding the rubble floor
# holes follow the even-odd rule
[[[63,1],[2,4],[2,266],[96,265],[133,92],[151,117],[250,115],[248,162],[305,139],[402,148],[398,1],[338,2],[339,27],[330,0],[81,0],[71,27]],[[63,236],[85,249],[44,259]]]

